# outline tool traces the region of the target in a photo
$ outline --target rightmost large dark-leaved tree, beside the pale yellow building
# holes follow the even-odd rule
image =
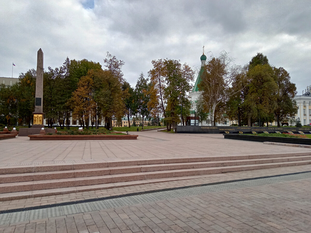
[[[296,85],[290,82],[290,75],[283,67],[274,67],[273,71],[274,81],[277,84],[277,90],[273,94],[276,96],[274,115],[276,117],[277,127],[280,127],[280,121],[286,121],[290,117],[295,117],[298,111],[296,101],[293,100],[297,91]]]

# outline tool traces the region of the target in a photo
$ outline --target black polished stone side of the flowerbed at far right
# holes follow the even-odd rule
[[[289,144],[311,145],[311,139],[308,138],[283,138],[283,137],[269,137],[269,136],[255,136],[255,135],[241,135],[241,134],[223,134],[225,139],[235,139],[253,142],[279,142]]]

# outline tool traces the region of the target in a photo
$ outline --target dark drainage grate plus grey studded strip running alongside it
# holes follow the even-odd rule
[[[233,188],[241,188],[247,186],[255,186],[255,185],[264,185],[264,184],[271,184],[281,181],[290,181],[290,180],[297,180],[297,179],[304,179],[310,178],[311,171],[302,171],[302,172],[295,172],[289,174],[281,174],[281,175],[274,175],[274,176],[263,176],[263,177],[255,177],[255,178],[248,178],[248,179],[240,179],[240,180],[228,180],[228,181],[221,181],[221,182],[214,182],[209,184],[201,184],[201,185],[190,185],[190,186],[183,186],[178,188],[167,188],[161,190],[150,190],[144,192],[137,192],[137,193],[130,193],[130,194],[122,194],[122,195],[115,195],[115,196],[108,196],[102,198],[94,198],[94,199],[87,199],[87,200],[79,200],[79,201],[72,201],[72,202],[64,202],[64,203],[56,203],[56,204],[49,204],[49,205],[42,205],[42,206],[34,206],[34,207],[27,207],[27,208],[18,208],[18,209],[10,209],[10,210],[1,210],[0,211],[0,224],[7,220],[8,213],[22,213],[31,210],[39,210],[45,209],[45,217],[55,217],[61,215],[67,215],[72,213],[79,213],[79,212],[87,212],[105,208],[113,208],[113,207],[120,207],[124,205],[131,205],[136,203],[143,203],[149,201],[156,201],[161,199],[168,199],[168,198],[175,198],[175,197],[182,197],[187,195],[194,195],[194,194],[202,194],[206,192],[217,192],[221,190],[228,190]],[[188,190],[187,190],[188,189]],[[104,202],[102,202],[104,201]],[[86,204],[87,203],[87,204]],[[88,204],[90,203],[90,204]],[[32,216],[43,216],[43,212],[31,212],[30,217]],[[26,217],[22,214],[11,214],[9,218],[14,219],[27,219],[28,212],[26,212]]]

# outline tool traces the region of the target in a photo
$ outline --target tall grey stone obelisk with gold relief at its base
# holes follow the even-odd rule
[[[42,128],[43,126],[43,52],[38,50],[37,56],[37,77],[36,77],[36,95],[35,112],[32,128]]]

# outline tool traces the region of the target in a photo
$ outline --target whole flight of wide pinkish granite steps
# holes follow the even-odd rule
[[[310,162],[311,152],[0,167],[0,201]]]

